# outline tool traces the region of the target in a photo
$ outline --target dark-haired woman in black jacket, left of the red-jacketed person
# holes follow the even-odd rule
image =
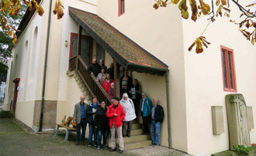
[[[95,114],[95,128],[98,129],[98,150],[102,144],[102,135],[102,148],[107,149],[106,140],[109,133],[109,117],[106,117],[107,110],[108,108],[106,107],[106,103],[104,101],[101,101],[100,107],[97,109]]]

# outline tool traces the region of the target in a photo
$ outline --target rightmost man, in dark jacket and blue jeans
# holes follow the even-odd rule
[[[150,146],[158,146],[159,145],[159,137],[161,131],[161,123],[164,119],[164,109],[158,103],[158,99],[154,97],[153,99],[153,107],[151,110],[151,138],[152,144]]]

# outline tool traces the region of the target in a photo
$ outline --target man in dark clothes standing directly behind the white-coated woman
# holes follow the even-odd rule
[[[124,71],[123,76],[120,78],[120,91],[123,93],[129,93],[133,86],[133,79],[128,75],[127,71]]]

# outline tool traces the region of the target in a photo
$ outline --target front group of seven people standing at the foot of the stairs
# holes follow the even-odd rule
[[[152,138],[151,146],[158,146],[161,122],[164,118],[163,108],[157,104],[156,97],[151,100],[145,93],[142,93],[143,99],[140,103],[140,115],[143,117],[143,134],[149,134],[149,121],[151,123],[150,135]],[[77,124],[76,145],[85,145],[85,130],[88,124],[89,136],[88,146],[93,145],[97,149],[105,148],[109,130],[111,132],[111,150],[116,151],[116,134],[119,141],[119,153],[123,153],[123,137],[130,137],[133,120],[137,118],[133,100],[123,93],[123,98],[112,98],[112,104],[107,107],[104,100],[98,103],[97,97],[93,97],[92,103],[85,103],[85,96],[80,97],[80,102],[74,106],[73,120]],[[82,130],[82,133],[81,133]],[[103,137],[103,142],[102,142]]]

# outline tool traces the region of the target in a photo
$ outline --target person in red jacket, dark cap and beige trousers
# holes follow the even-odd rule
[[[116,133],[119,141],[119,153],[123,153],[124,144],[122,136],[123,120],[126,117],[126,113],[123,107],[119,104],[119,98],[113,97],[113,103],[109,106],[106,113],[109,117],[109,127],[111,128],[111,150],[116,151]]]

